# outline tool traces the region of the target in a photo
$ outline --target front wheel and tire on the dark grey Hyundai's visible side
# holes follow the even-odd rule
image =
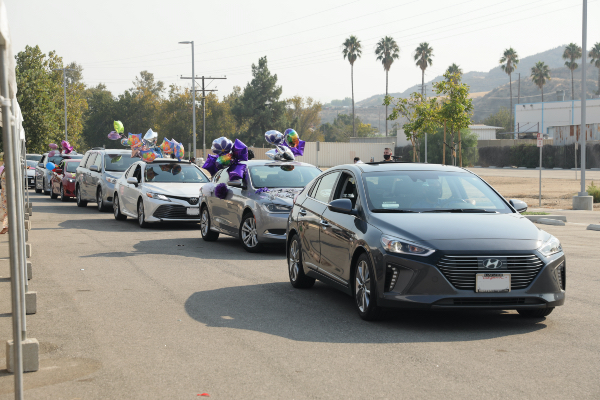
[[[376,321],[383,309],[377,305],[377,287],[369,256],[361,254],[353,269],[352,293],[358,315],[365,321]]]

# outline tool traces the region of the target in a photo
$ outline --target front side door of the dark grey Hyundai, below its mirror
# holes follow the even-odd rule
[[[356,209],[358,202],[357,182],[348,171],[342,172],[333,191],[331,201],[350,199]],[[331,275],[348,282],[350,280],[350,262],[352,261],[356,217],[325,209],[321,217],[321,263],[320,267]]]

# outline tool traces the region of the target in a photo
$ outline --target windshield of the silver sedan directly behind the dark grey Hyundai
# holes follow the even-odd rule
[[[250,167],[255,188],[302,188],[321,173],[307,165],[257,165]]]

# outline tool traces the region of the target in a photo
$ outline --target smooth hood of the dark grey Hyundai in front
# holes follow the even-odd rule
[[[372,214],[384,234],[427,242],[438,249],[538,248],[548,234],[520,214]],[[520,242],[520,243],[518,243]]]

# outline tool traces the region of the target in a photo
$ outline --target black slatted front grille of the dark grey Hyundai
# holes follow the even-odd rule
[[[506,256],[503,270],[479,269],[477,259],[486,256],[443,256],[438,268],[457,289],[475,290],[475,275],[481,273],[510,274],[511,289],[524,289],[531,284],[544,263],[534,255]],[[504,256],[503,256],[504,257]]]

